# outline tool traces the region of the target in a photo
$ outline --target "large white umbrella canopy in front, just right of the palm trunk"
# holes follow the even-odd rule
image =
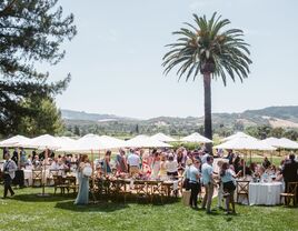
[[[216,149],[274,151],[276,148],[256,139],[239,137],[215,147]]]

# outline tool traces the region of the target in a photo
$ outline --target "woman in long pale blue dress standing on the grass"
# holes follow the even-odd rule
[[[79,192],[74,204],[88,204],[89,202],[89,177],[83,174],[85,168],[91,168],[87,154],[81,157],[78,168]]]

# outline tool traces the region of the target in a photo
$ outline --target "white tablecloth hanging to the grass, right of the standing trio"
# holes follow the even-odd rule
[[[275,205],[280,203],[281,182],[249,183],[249,204]]]

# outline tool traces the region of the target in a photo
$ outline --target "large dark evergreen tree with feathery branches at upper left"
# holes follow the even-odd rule
[[[49,82],[48,73],[36,63],[57,64],[63,57],[60,49],[77,33],[73,16],[62,17],[58,0],[0,1],[0,131],[12,134],[20,127],[20,117],[31,117],[24,100],[52,99],[70,81]]]

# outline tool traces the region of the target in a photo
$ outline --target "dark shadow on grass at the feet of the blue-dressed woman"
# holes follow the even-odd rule
[[[70,210],[73,212],[113,212],[129,208],[129,204],[113,203],[108,201],[100,201],[97,203],[89,203],[86,205],[74,205],[74,201],[60,201],[57,202],[54,208],[62,210]]]

